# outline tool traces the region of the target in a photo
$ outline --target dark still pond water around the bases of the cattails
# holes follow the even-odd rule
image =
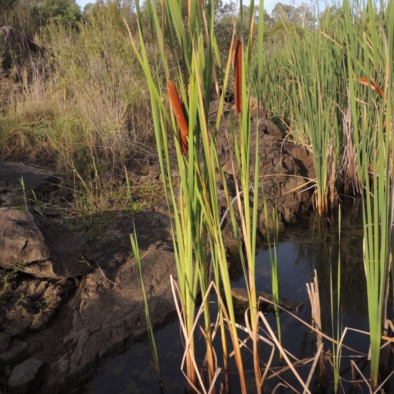
[[[342,305],[342,326],[368,330],[366,287],[362,262],[362,227],[357,211],[351,211],[343,215],[342,233],[340,243],[341,263],[341,288],[340,299]],[[257,289],[270,292],[270,263],[269,254],[264,247],[258,255],[256,273]],[[278,262],[280,270],[281,295],[290,300],[302,302],[306,300],[296,315],[310,323],[311,307],[307,299],[306,283],[313,281],[314,269],[319,279],[319,292],[322,306],[322,326],[324,332],[331,334],[331,293],[330,293],[330,267],[333,272],[334,298],[336,297],[336,272],[338,266],[338,223],[337,218],[325,218],[318,220],[316,217],[308,217],[297,224],[297,227],[288,229],[280,239],[278,245]],[[244,286],[241,267],[232,263],[233,285]],[[336,299],[334,299],[336,304]],[[266,315],[272,328],[276,327],[276,320],[272,313]],[[286,313],[280,314],[283,346],[298,359],[313,357],[316,353],[316,335],[309,328]],[[156,333],[156,341],[164,378],[165,393],[181,393],[182,387],[186,386],[186,380],[180,372],[183,355],[183,345],[180,340],[179,323],[174,322]],[[368,352],[368,337],[365,335],[349,332],[345,343],[363,353]],[[329,349],[328,341],[325,342],[325,350]],[[266,348],[262,348],[264,353]],[[346,353],[346,352],[344,352]],[[201,355],[203,357],[202,350]],[[99,370],[99,374],[87,386],[86,394],[107,393],[160,393],[157,373],[151,363],[151,348],[149,342],[138,343],[131,349],[109,361]],[[202,362],[202,359],[201,359]],[[279,365],[278,355],[275,356],[275,365]],[[328,362],[326,363],[328,366]],[[350,372],[346,372],[348,361],[343,361],[342,369],[346,377],[350,378]],[[360,368],[364,368],[369,375],[369,364],[365,365],[363,359],[359,361]],[[232,370],[232,393],[238,393],[237,376],[235,367]],[[247,382],[254,392],[254,373],[252,372],[251,357],[246,357],[245,369],[248,370]],[[332,380],[332,374],[328,367],[328,382]],[[310,364],[299,369],[304,381],[310,371]],[[284,376],[297,387],[299,384],[291,373]],[[272,393],[279,381],[271,379],[264,383],[264,391]],[[313,383],[311,384],[313,389]],[[328,393],[331,393],[332,385],[328,384]],[[363,387],[366,392],[366,387]],[[276,393],[290,393],[288,388],[280,387]],[[351,392],[351,386],[346,388]],[[389,391],[390,392],[390,391]]]

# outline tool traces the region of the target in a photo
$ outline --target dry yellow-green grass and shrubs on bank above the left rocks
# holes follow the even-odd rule
[[[0,155],[54,164],[75,188],[76,207],[108,200],[101,178],[123,168],[152,136],[149,95],[114,3],[96,5],[78,32],[54,21],[31,72],[0,84]],[[153,52],[153,51],[152,51]],[[140,191],[142,195],[146,191]],[[147,200],[150,200],[148,198]]]

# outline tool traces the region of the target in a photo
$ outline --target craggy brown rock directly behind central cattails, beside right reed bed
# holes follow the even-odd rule
[[[234,118],[235,129],[237,130],[237,118]],[[255,157],[256,157],[256,139],[259,139],[259,177],[263,184],[265,201],[268,212],[268,226],[266,225],[263,198],[258,199],[258,240],[262,240],[267,231],[273,229],[272,209],[276,206],[278,212],[279,230],[283,231],[285,225],[294,223],[296,219],[306,213],[312,206],[310,191],[307,189],[306,182],[316,177],[313,169],[313,161],[308,151],[295,144],[284,140],[280,130],[269,120],[262,119],[259,121],[259,132],[256,120],[251,120],[251,128],[254,132],[251,134],[251,152],[250,152],[250,173],[254,174]],[[230,125],[228,126],[230,128]],[[239,136],[237,137],[239,139]],[[239,141],[238,141],[239,143]],[[228,141],[226,133],[222,129],[218,132],[217,152],[220,163],[222,164],[226,181],[228,184],[230,197],[235,197],[235,184],[233,175],[233,162],[235,166],[235,174],[237,175],[237,165],[235,158],[234,142],[232,139]],[[231,161],[231,155],[233,162]],[[300,160],[303,158],[304,162]],[[239,179],[238,181],[238,188]],[[239,189],[240,190],[240,189]],[[253,193],[251,193],[251,206],[253,206]],[[227,209],[227,201],[220,201],[221,211]],[[239,220],[237,204],[233,204],[236,218]],[[227,252],[238,254],[238,250],[234,247],[233,239],[235,238],[233,226],[228,218],[225,218],[222,226],[224,234],[225,246]],[[243,241],[243,233],[239,232],[241,241]]]

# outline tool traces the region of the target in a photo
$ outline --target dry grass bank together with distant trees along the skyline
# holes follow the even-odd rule
[[[154,3],[160,17],[161,1]],[[313,11],[306,5],[278,3],[272,16],[264,11],[263,18],[258,8],[254,32],[263,21],[266,51],[283,47],[285,27],[300,35],[315,29]],[[223,61],[230,49],[232,17],[241,11],[243,26],[237,18],[236,28],[247,35],[249,8],[215,3]],[[0,0],[0,25],[20,29],[39,48],[22,56],[18,45],[10,49],[0,35],[0,157],[55,165],[89,197],[83,206],[88,211],[99,210],[105,201],[102,174],[123,171],[128,159],[145,151],[154,138],[148,87],[123,18],[136,33],[133,1],[97,1],[81,10],[74,1]],[[146,4],[141,19],[149,25]],[[153,41],[147,44],[152,64],[158,51]],[[175,61],[179,54],[173,56]]]

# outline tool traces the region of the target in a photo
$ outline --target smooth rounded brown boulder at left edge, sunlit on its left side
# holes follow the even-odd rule
[[[62,242],[59,242],[62,240]],[[43,278],[69,278],[92,268],[85,241],[61,223],[13,208],[0,208],[0,265]]]

